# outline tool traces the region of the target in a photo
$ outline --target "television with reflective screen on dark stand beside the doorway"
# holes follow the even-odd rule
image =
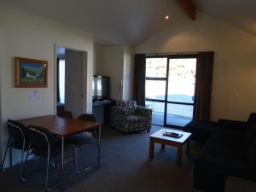
[[[93,76],[93,99],[104,100],[109,98],[109,77]]]

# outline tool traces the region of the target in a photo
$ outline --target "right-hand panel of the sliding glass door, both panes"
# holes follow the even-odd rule
[[[166,125],[184,126],[193,118],[196,58],[169,59]]]

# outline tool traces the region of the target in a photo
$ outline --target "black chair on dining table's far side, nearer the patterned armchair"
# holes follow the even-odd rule
[[[89,114],[89,113],[81,114],[78,119],[96,122],[95,116],[93,114]],[[98,134],[96,134],[97,133],[96,131],[97,131],[96,129],[90,131],[92,133],[93,137],[86,136],[83,133],[79,133],[74,136],[67,137],[66,142],[75,146],[75,154],[77,157],[76,160],[78,160],[78,157],[81,156],[81,154],[82,154],[82,146],[83,145],[89,144],[89,143],[95,143],[97,141],[98,161],[100,161],[100,159],[101,159],[101,157],[100,157],[101,130],[100,129],[98,130]],[[76,172],[79,173],[77,161],[75,163],[75,166],[76,166]]]

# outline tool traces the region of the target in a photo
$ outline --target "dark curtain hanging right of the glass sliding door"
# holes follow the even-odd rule
[[[210,120],[214,52],[198,54],[195,78],[195,120]]]

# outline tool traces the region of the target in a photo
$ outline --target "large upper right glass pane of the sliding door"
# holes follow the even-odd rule
[[[196,59],[170,59],[168,101],[194,103]]]

